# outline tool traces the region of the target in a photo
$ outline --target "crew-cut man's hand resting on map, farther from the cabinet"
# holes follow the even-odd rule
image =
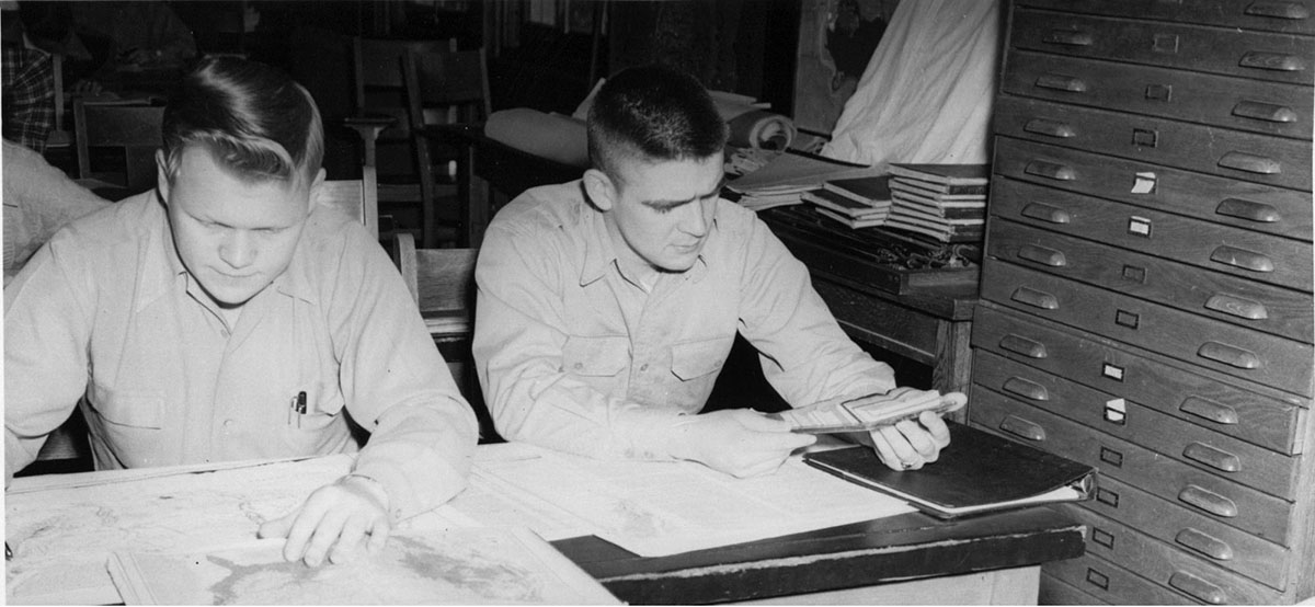
[[[675,457],[740,478],[771,474],[792,451],[817,441],[817,436],[792,432],[789,422],[747,409],[681,418],[671,430]]]

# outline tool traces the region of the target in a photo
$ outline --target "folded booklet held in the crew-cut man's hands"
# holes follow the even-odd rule
[[[957,392],[940,394],[936,390],[896,388],[885,394],[831,398],[768,416],[790,422],[796,432],[863,432],[917,419],[923,411],[943,415],[959,410],[965,402],[968,397]]]

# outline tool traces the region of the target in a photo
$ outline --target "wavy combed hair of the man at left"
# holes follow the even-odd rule
[[[325,151],[310,93],[277,68],[230,56],[201,59],[183,76],[163,137],[170,180],[195,143],[239,177],[293,184],[314,179]]]

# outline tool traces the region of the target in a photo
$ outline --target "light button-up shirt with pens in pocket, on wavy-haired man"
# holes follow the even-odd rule
[[[355,452],[368,432],[354,472],[393,516],[464,487],[473,413],[346,214],[317,206],[234,326],[203,304],[154,192],[59,231],[4,296],[7,485],[85,393],[97,469]]]

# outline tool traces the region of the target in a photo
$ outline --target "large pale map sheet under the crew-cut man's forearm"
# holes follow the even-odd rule
[[[790,457],[776,474],[738,480],[693,462],[601,461],[508,443],[484,445],[473,473],[496,480],[533,519],[576,526],[656,557],[913,512],[907,503]],[[493,515],[463,508],[472,519]],[[526,524],[535,528],[535,523]],[[547,536],[543,531],[540,535]],[[576,533],[581,535],[581,533]]]

